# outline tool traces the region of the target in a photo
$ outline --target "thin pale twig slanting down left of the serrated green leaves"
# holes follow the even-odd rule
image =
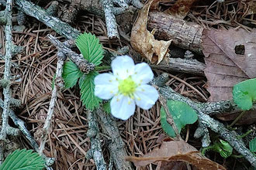
[[[57,69],[56,69],[56,79],[55,79],[55,83],[54,83],[54,89],[52,91],[52,95],[50,98],[50,104],[49,104],[49,109],[47,112],[47,118],[45,120],[43,129],[42,129],[42,138],[40,138],[40,148],[39,148],[40,155],[43,154],[44,145],[47,140],[47,134],[49,133],[49,129],[50,129],[50,123],[52,121],[52,117],[54,114],[54,106],[55,106],[55,102],[57,100],[57,90],[58,90],[58,88],[60,88],[58,81],[62,80],[62,71],[63,71],[62,69],[63,69],[65,59],[66,59],[66,56],[64,55],[64,53],[59,51],[57,53]]]

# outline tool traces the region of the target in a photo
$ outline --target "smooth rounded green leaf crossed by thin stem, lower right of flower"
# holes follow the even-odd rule
[[[179,133],[186,124],[194,124],[198,119],[195,110],[181,101],[168,100],[167,106]],[[161,107],[161,126],[169,136],[175,137],[175,131],[171,125],[168,124],[166,120],[166,112],[163,107]]]

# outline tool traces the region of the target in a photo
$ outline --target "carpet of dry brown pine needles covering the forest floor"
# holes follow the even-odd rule
[[[256,25],[254,14],[243,15],[246,12],[247,2],[228,0],[223,4],[207,1],[195,3],[190,9],[186,21],[194,22],[204,28],[237,28],[242,27],[251,30]],[[171,6],[174,2],[165,1],[164,6]],[[40,2],[43,8],[50,5]],[[65,3],[59,5],[59,12],[64,8]],[[215,22],[218,19],[230,21],[229,24]],[[250,19],[250,24],[247,24]],[[31,134],[35,134],[38,129],[43,128],[44,119],[50,103],[52,82],[57,66],[57,48],[51,44],[47,35],[51,34],[63,41],[64,36],[59,36],[53,29],[43,25],[43,23],[27,17],[22,32],[14,30],[13,42],[17,46],[23,46],[24,52],[12,58],[12,62],[18,66],[12,67],[12,76],[16,76],[12,82],[12,97],[22,101],[22,107],[16,110],[16,114],[27,124]],[[77,19],[71,23],[80,32],[92,32],[103,45],[103,49],[116,52],[123,46],[130,45],[129,39],[120,36],[120,39],[109,39],[107,36],[105,19],[93,15],[86,11],[78,13]],[[0,44],[5,44],[4,27],[0,26]],[[127,33],[130,36],[130,32]],[[170,49],[171,50],[171,49]],[[184,49],[180,49],[185,53]],[[4,52],[4,48],[0,49]],[[130,51],[130,56],[133,52]],[[202,56],[195,55],[202,59]],[[184,56],[180,56],[184,57]],[[135,62],[146,61],[146,59],[133,58]],[[4,72],[4,61],[0,61],[0,73]],[[175,73],[153,69],[155,76],[163,72],[169,74],[170,80],[166,83],[175,92],[189,97],[192,100],[206,102],[209,99],[209,92],[206,90],[207,79],[205,76],[192,75],[189,73]],[[161,128],[160,118],[161,104],[157,103],[150,110],[141,110],[137,107],[133,117],[127,121],[117,121],[119,133],[126,145],[128,155],[140,157],[159,148],[161,139],[166,138],[166,134]],[[90,139],[86,133],[88,131],[88,120],[86,109],[81,104],[80,94],[77,87],[61,90],[57,93],[57,103],[54,109],[54,121],[48,135],[47,145],[44,154],[47,157],[57,158],[54,169],[95,169],[92,159],[85,158],[86,152],[90,149]],[[230,124],[232,121],[222,121],[223,124]],[[247,129],[249,124],[237,126]],[[187,125],[182,130],[182,138],[198,150],[201,148],[200,139],[193,137],[196,125]],[[214,134],[214,133],[213,133]],[[215,134],[214,134],[215,135]],[[109,151],[106,148],[108,140],[105,134],[100,134],[102,151],[106,162],[109,162]],[[30,148],[26,138],[16,138],[13,142],[22,145],[22,148]],[[206,152],[206,157],[214,162],[223,165],[227,169],[248,169],[250,165],[243,158],[222,158],[214,151]],[[157,163],[147,165],[140,169],[156,169]],[[135,169],[135,166],[134,166]],[[187,168],[180,168],[187,169]],[[194,169],[194,168],[193,168]]]

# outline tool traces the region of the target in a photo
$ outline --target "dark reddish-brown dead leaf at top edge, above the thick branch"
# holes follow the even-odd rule
[[[197,0],[178,0],[173,6],[171,6],[171,8],[165,10],[164,13],[174,15],[178,19],[184,19],[185,16],[189,13],[193,3],[196,1]]]

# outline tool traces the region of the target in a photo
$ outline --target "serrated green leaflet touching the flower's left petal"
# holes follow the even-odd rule
[[[95,97],[94,94],[94,78],[98,74],[98,72],[93,71],[87,75],[82,76],[79,80],[79,87],[81,89],[81,101],[85,107],[90,110],[93,110],[95,107],[99,107],[99,102],[101,101],[99,97]]]

